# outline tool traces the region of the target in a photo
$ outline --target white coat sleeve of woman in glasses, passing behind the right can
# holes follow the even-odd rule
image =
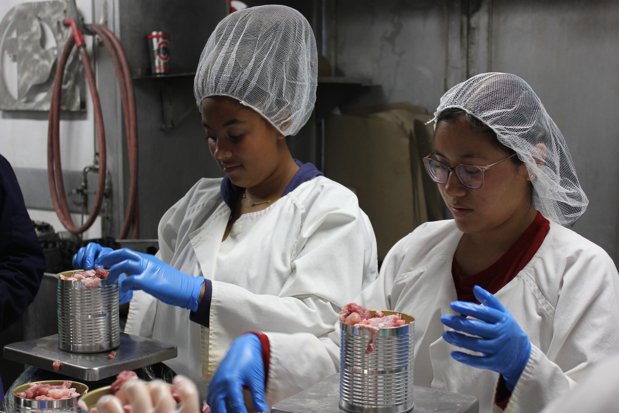
[[[386,255],[381,272],[363,288],[355,303],[371,309],[392,309],[389,303],[393,279],[399,271],[406,236]],[[346,303],[348,304],[348,303]],[[313,334],[265,332],[271,357],[266,398],[269,406],[303,391],[339,371],[339,321],[325,337]]]

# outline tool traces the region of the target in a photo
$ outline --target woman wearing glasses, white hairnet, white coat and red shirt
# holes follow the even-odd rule
[[[617,269],[568,229],[587,198],[560,130],[525,81],[474,76],[441,98],[434,120],[435,152],[424,162],[454,220],[397,242],[356,302],[417,318],[417,386],[476,396],[480,412],[539,412],[617,352]],[[337,326],[322,339],[264,335],[270,362],[238,357],[247,350],[239,340],[222,366],[236,357],[242,383],[218,371],[212,389],[234,401],[234,386],[264,382],[266,366],[274,402],[339,368]]]

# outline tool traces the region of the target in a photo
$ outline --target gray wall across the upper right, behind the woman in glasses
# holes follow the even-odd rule
[[[337,72],[379,85],[353,105],[433,111],[449,87],[486,71],[529,82],[589,197],[574,230],[617,260],[619,2],[337,0],[335,16]]]

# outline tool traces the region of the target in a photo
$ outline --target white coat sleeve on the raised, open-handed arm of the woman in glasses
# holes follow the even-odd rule
[[[583,256],[587,255],[587,256]],[[619,276],[608,255],[569,257],[547,350],[532,346],[505,411],[542,411],[583,370],[619,350]]]

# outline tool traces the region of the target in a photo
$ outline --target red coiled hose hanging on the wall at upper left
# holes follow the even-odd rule
[[[86,51],[84,38],[82,33],[77,29],[73,19],[66,22],[71,25],[73,32],[69,36],[64,45],[63,52],[58,59],[56,75],[54,76],[54,85],[51,94],[50,117],[48,128],[48,179],[50,181],[51,200],[54,204],[54,210],[58,214],[58,218],[63,225],[71,233],[79,235],[92,226],[103,203],[103,193],[105,192],[106,179],[106,148],[105,148],[105,128],[103,127],[103,114],[99,95],[97,92],[97,84],[95,75],[92,71],[90,58]],[[129,156],[129,202],[127,204],[126,215],[124,218],[123,228],[118,236],[119,239],[124,239],[132,228],[132,237],[139,238],[139,216],[138,216],[138,197],[137,197],[137,118],[136,118],[136,100],[133,92],[133,82],[131,79],[131,71],[129,63],[124,53],[123,46],[118,38],[107,27],[99,24],[89,25],[90,29],[102,39],[111,60],[114,64],[116,77],[121,91],[121,100],[123,104],[124,123],[127,132],[127,146]],[[64,69],[67,60],[73,47],[77,45],[80,60],[84,64],[84,71],[90,95],[92,96],[93,110],[95,112],[95,124],[97,125],[97,138],[99,143],[99,177],[97,181],[97,193],[95,195],[95,203],[90,211],[88,220],[82,226],[75,226],[71,218],[71,211],[67,203],[66,191],[64,189],[63,170],[60,159],[60,101],[61,90],[63,85]]]

